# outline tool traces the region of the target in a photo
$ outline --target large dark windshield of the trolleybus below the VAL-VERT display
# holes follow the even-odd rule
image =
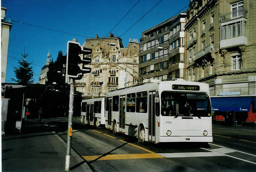
[[[210,117],[211,104],[206,94],[163,91],[162,116]]]

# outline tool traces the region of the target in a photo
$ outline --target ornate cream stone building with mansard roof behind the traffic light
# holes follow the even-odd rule
[[[87,38],[83,44],[91,48],[91,73],[75,80],[76,91],[84,98],[102,97],[110,90],[137,84],[139,44],[129,41],[125,48],[122,39],[110,33],[109,37]],[[68,81],[70,83],[70,80]]]

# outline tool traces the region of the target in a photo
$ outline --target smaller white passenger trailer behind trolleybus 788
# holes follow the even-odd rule
[[[105,98],[82,100],[81,122],[95,127],[105,127]]]

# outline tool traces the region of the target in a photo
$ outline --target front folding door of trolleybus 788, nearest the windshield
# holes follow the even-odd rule
[[[155,142],[155,91],[149,92],[148,141]]]

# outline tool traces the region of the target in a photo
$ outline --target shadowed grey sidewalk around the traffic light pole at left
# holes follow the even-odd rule
[[[21,134],[2,135],[2,171],[65,171],[66,146],[44,122],[22,122]],[[91,171],[72,149],[70,171]]]

